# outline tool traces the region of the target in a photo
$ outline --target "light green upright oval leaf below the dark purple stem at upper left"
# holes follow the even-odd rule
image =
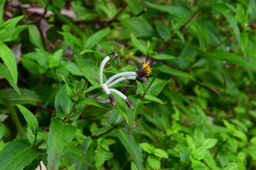
[[[44,49],[44,44],[40,35],[40,32],[36,25],[28,26],[28,35],[32,44],[34,44],[38,48]]]

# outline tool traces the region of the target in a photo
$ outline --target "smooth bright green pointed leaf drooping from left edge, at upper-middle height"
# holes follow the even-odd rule
[[[4,64],[10,71],[14,84],[17,85],[18,71],[16,59],[9,47],[7,47],[2,41],[0,41],[0,58],[4,61]]]

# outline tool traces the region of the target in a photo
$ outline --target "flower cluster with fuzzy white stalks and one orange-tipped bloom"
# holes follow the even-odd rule
[[[110,59],[113,59],[114,57],[118,56],[117,51],[114,51],[113,53],[111,53],[110,55],[108,55],[107,57],[105,57],[101,64],[100,64],[100,85],[103,88],[103,91],[108,95],[108,99],[110,100],[111,104],[113,106],[115,106],[117,104],[116,99],[114,98],[114,96],[111,94],[111,92],[117,94],[118,96],[120,96],[123,100],[125,100],[126,105],[128,106],[128,108],[130,110],[134,109],[134,104],[120,91],[114,89],[114,88],[109,88],[123,80],[138,80],[142,83],[146,83],[148,81],[148,77],[150,74],[152,74],[150,65],[147,63],[143,63],[142,66],[140,68],[138,68],[138,70],[134,71],[129,71],[129,72],[120,72],[118,74],[115,74],[114,76],[110,77],[105,83],[103,83],[103,70],[104,67],[106,65],[106,63],[108,63],[108,61],[110,61]]]

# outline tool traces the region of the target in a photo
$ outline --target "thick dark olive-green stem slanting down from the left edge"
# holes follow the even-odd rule
[[[0,98],[2,98],[5,106],[8,108],[9,112],[10,112],[10,116],[12,118],[12,121],[17,129],[18,135],[20,137],[23,136],[23,130],[22,130],[22,126],[20,124],[20,120],[18,118],[18,114],[16,112],[16,110],[14,109],[14,107],[12,106],[11,101],[6,97],[6,95],[0,91]]]

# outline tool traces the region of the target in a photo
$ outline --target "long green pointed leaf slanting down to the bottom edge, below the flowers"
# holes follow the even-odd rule
[[[127,152],[132,157],[133,162],[136,164],[138,170],[143,170],[143,159],[142,159],[142,150],[140,146],[136,143],[133,136],[130,134],[130,139],[121,129],[114,129],[115,134],[118,136],[122,144],[124,145]]]

